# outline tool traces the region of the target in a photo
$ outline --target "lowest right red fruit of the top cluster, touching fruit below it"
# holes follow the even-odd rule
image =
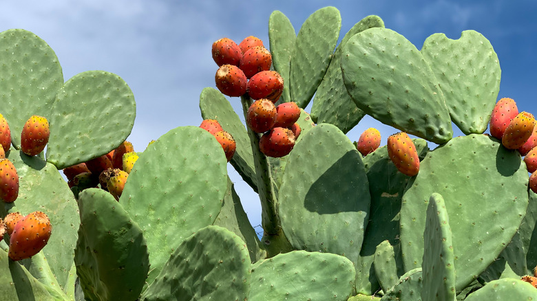
[[[254,100],[277,102],[284,91],[284,79],[277,71],[261,71],[250,78],[247,91]]]

